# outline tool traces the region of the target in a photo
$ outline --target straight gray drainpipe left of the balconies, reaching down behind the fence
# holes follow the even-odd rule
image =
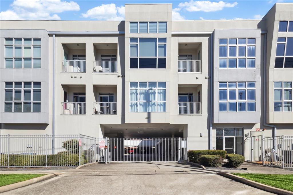
[[[52,100],[52,154],[54,154],[55,146],[55,34],[53,34],[53,100]]]

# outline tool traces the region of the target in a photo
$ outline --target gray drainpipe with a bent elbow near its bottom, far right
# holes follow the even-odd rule
[[[272,137],[277,136],[277,126],[267,124],[267,33],[261,32],[263,38],[263,126],[272,127]]]

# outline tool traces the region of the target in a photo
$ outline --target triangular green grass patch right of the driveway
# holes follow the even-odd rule
[[[293,174],[232,173],[268,186],[293,191]]]

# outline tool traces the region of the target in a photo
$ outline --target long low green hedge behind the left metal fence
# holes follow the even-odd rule
[[[91,156],[81,155],[80,164],[86,164],[90,162]],[[6,167],[8,162],[8,155],[0,155],[0,167]],[[41,167],[46,165],[46,155],[9,155],[9,166],[17,167]],[[47,166],[78,166],[79,155],[59,153],[55,155],[47,155]]]

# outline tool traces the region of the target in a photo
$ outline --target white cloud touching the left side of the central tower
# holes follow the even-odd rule
[[[86,13],[82,13],[81,16],[98,20],[124,20],[125,7],[116,7],[115,4],[102,4],[89,9]]]

